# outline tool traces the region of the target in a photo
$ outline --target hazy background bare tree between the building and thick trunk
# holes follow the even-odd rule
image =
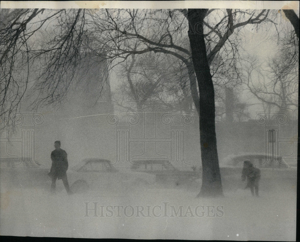
[[[173,112],[193,113],[195,110],[189,92],[187,71],[180,64],[182,62],[178,63],[172,55],[155,55],[151,52],[133,54],[131,58],[126,59],[121,64],[120,77],[126,76],[128,85],[122,85],[120,92],[127,92],[124,96],[130,106],[127,105],[127,109],[132,112],[136,104],[140,106],[151,101],[165,104]],[[118,100],[124,101],[119,97]],[[116,105],[124,107],[119,103]],[[145,108],[149,109],[149,105]]]

